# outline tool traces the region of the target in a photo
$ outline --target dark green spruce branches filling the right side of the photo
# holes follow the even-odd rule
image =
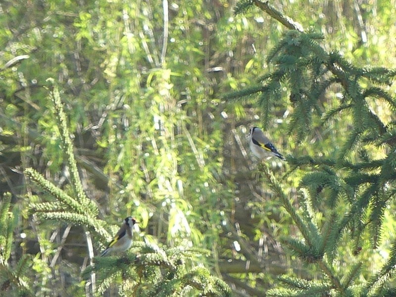
[[[266,7],[257,6],[269,13]],[[292,23],[286,26],[294,29]],[[372,248],[379,247],[385,213],[393,207],[395,193],[391,189],[396,181],[396,148],[393,142],[383,142],[390,123],[384,121],[370,104],[385,104],[390,110],[395,110],[396,99],[388,90],[395,79],[395,71],[353,65],[340,52],[325,50],[319,43],[321,40],[323,36],[314,31],[286,31],[267,56],[266,62],[271,67],[260,77],[259,85],[263,88],[255,90],[255,102],[262,110],[265,127],[271,119],[271,106],[277,104],[287,90],[293,107],[288,122],[289,132],[295,134],[299,142],[314,129],[323,129],[323,125],[331,129],[333,119],[341,119],[346,113],[352,119],[347,135],[338,138],[333,147],[337,158],[288,158],[293,170],[308,169],[298,187],[303,193],[298,199],[301,211],[296,210],[272,171],[266,166],[259,168],[265,183],[280,199],[300,232],[301,239],[283,238],[284,247],[302,262],[315,265],[322,273],[321,279],[326,280],[312,281],[307,285],[300,278],[283,278],[282,283],[291,289],[274,289],[269,294],[384,296],[383,288],[394,286],[391,267],[394,265],[395,247],[390,247],[387,262],[377,274],[370,275],[370,282],[360,279],[364,264],[344,258],[341,251],[348,246],[345,236],[352,239],[355,255],[361,250],[363,238],[369,239]],[[245,94],[252,98],[254,88],[248,87],[247,93],[238,91],[225,98],[244,99]],[[324,104],[323,99],[331,96],[331,92],[342,96],[332,104]],[[379,146],[375,151],[373,144],[386,146],[386,156],[378,157]],[[350,263],[347,274],[339,268],[340,262]],[[365,265],[367,267],[368,263]]]

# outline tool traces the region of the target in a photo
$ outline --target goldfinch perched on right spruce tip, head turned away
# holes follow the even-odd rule
[[[281,155],[273,144],[265,137],[264,133],[257,127],[250,128],[249,131],[249,147],[251,152],[260,159],[268,157],[278,157],[281,160],[286,159]]]

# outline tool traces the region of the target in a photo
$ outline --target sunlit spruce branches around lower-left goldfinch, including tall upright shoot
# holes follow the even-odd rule
[[[37,187],[55,199],[55,201],[32,204],[31,212],[44,220],[81,225],[85,230],[92,230],[96,235],[107,238],[108,233],[103,227],[105,223],[97,218],[98,206],[83,191],[66,124],[67,118],[57,87],[53,88],[51,99],[57,114],[62,148],[70,167],[71,187],[75,198],[57,188],[34,169],[27,168],[26,176]],[[6,206],[8,205],[9,201]],[[87,244],[89,248],[92,248],[91,239],[88,236]],[[201,292],[204,296],[230,296],[228,286],[220,279],[211,276],[208,269],[199,266],[192,267],[191,259],[198,257],[203,253],[203,250],[176,246],[168,248],[165,252],[158,246],[141,243],[140,245],[135,244],[134,252],[135,254],[130,258],[96,258],[92,262],[92,266],[86,270],[86,275],[91,275],[93,292],[96,292],[96,283],[93,283],[93,280],[96,279],[94,275],[98,275],[97,290],[99,294],[103,294],[110,284],[114,286],[113,280],[121,276],[122,280],[119,282],[121,296],[130,296],[127,293],[130,290],[134,292],[135,296],[156,296],[158,294],[159,296],[176,296],[192,290]],[[188,262],[187,265],[186,262]]]

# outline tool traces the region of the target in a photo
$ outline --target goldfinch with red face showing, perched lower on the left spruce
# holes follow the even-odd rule
[[[109,255],[114,252],[125,251],[131,247],[133,241],[133,225],[138,222],[133,217],[127,217],[121,225],[120,230],[108,244],[101,256]]]

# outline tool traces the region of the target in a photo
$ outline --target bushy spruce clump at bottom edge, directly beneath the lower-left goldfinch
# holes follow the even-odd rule
[[[180,245],[162,249],[155,244],[136,243],[124,257],[97,257],[95,266],[83,275],[95,272],[98,294],[114,286],[114,281],[124,282],[122,296],[231,296],[230,289],[220,279],[210,275],[199,265],[207,251]]]

